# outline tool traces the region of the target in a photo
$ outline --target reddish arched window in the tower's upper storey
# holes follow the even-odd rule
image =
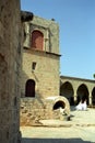
[[[33,31],[32,32],[32,47],[41,50],[44,48],[44,34],[40,31]]]

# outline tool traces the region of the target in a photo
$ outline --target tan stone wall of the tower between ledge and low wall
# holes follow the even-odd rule
[[[32,70],[32,63],[36,62],[35,70]],[[22,95],[25,96],[27,79],[36,82],[35,95],[46,98],[59,95],[59,57],[45,52],[24,50],[22,70]]]

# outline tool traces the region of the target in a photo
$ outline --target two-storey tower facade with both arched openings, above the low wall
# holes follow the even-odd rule
[[[54,21],[34,16],[33,21],[25,23],[22,96],[46,98],[59,95],[58,37],[59,26]]]

